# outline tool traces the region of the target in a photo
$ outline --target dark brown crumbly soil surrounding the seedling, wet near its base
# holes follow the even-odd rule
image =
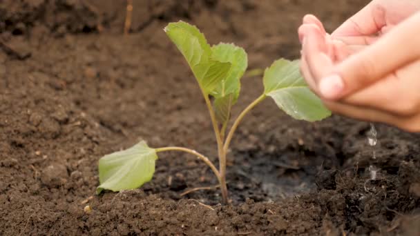
[[[420,136],[333,116],[307,123],[273,101],[231,144],[231,204],[211,170],[162,153],[153,181],[95,195],[97,161],[144,139],[216,161],[200,91],[162,28],[180,19],[235,42],[249,68],[299,54],[306,13],[333,30],[367,0],[0,2],[0,235],[419,235]],[[242,79],[236,116],[262,91]],[[375,151],[376,159],[372,159]],[[369,167],[380,170],[371,179]]]

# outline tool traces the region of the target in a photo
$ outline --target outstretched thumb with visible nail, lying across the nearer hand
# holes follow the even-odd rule
[[[321,95],[325,99],[340,99],[418,59],[419,26],[420,12],[400,23],[371,46],[336,64],[332,73],[319,83]]]

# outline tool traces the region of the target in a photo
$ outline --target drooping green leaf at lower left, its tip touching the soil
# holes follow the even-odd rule
[[[99,159],[99,183],[97,193],[102,190],[120,191],[139,188],[151,181],[155,173],[155,160],[158,155],[146,142],[105,155]]]

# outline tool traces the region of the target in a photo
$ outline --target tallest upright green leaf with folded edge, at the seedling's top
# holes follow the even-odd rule
[[[231,63],[212,59],[211,47],[206,38],[198,28],[189,23],[169,23],[164,30],[184,55],[202,90],[207,94],[213,92],[218,83],[227,76]]]

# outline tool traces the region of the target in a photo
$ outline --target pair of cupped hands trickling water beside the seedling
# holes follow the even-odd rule
[[[372,1],[332,35],[307,15],[298,33],[300,70],[330,110],[420,131],[420,1]]]

